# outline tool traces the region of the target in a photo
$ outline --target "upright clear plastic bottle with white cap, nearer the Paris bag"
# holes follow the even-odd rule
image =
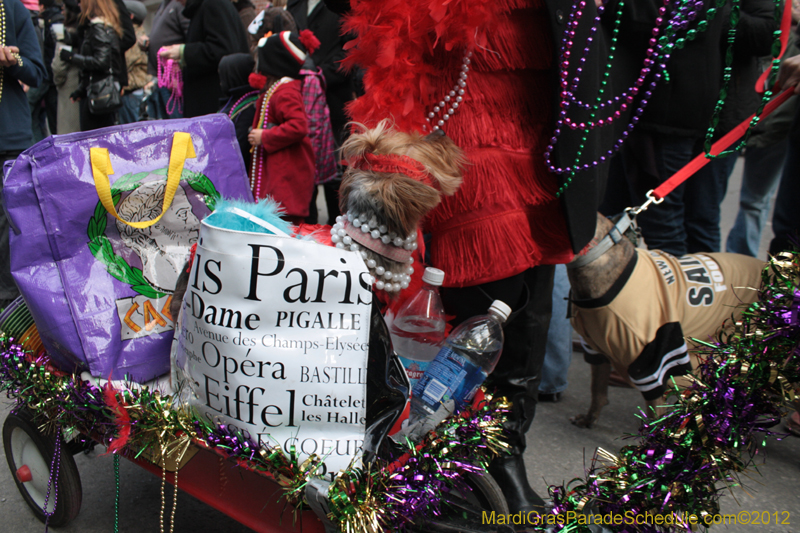
[[[389,328],[392,346],[406,369],[412,388],[444,343],[444,308],[439,296],[443,281],[444,272],[426,268],[422,288],[397,311]]]

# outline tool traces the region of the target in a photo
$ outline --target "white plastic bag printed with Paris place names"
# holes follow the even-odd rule
[[[256,444],[316,454],[333,475],[364,441],[371,305],[353,252],[204,223],[175,337],[177,380],[198,415]]]

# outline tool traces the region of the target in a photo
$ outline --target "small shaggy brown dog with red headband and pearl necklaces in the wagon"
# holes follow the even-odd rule
[[[339,248],[361,252],[376,289],[396,293],[408,287],[413,273],[417,228],[441,195],[456,192],[466,160],[441,130],[405,133],[388,120],[372,129],[355,126],[359,131],[342,146],[343,215],[331,239]]]

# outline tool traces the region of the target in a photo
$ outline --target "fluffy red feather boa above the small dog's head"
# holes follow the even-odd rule
[[[460,60],[466,50],[485,46],[498,11],[496,0],[351,0],[350,5],[344,31],[357,37],[346,45],[343,64],[367,70],[366,94],[349,104],[350,116],[368,126],[392,117],[405,131],[422,130],[427,108],[442,96],[434,94],[441,86],[436,80],[452,77],[431,64],[433,50],[452,50]]]

